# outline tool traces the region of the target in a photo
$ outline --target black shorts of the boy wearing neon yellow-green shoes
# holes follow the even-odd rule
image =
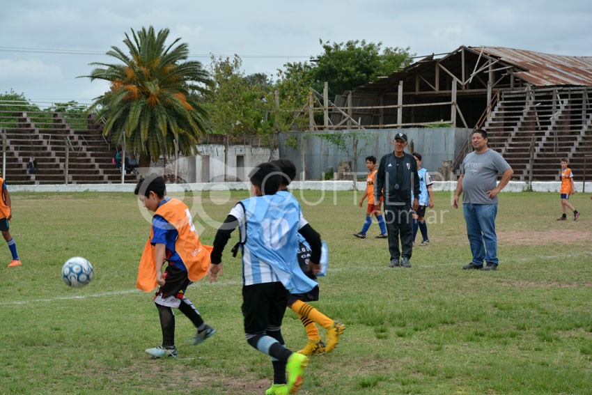
[[[281,326],[287,305],[288,291],[280,282],[243,286],[244,333],[260,334],[269,326]]]

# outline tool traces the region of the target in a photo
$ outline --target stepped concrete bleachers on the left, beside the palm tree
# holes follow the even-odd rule
[[[0,107],[0,130],[6,139],[6,179],[11,185],[121,182],[113,164],[115,146],[103,137],[102,125],[93,116]],[[27,167],[31,156],[38,165],[33,174]],[[135,175],[125,176],[125,183],[136,181]]]

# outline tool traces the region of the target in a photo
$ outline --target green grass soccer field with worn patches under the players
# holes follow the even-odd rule
[[[185,196],[217,222],[247,192]],[[592,201],[576,194],[577,222],[556,222],[558,194],[501,194],[499,270],[461,270],[471,259],[462,209],[435,194],[429,247],[412,268],[388,268],[387,240],[352,237],[364,209],[354,192],[295,191],[327,240],[329,276],[316,307],[347,325],[336,350],[313,357],[302,394],[592,394]],[[134,291],[150,215],[132,194],[13,193],[11,232],[21,268],[0,247],[1,394],[263,394],[272,369],[248,346],[240,314],[240,260],[224,254],[224,277],[188,290],[217,334],[200,346],[178,315],[179,359],[149,359],[160,343],[148,293]],[[304,201],[308,203],[304,203]],[[428,212],[429,213],[429,212]],[[369,234],[377,234],[373,224]],[[418,236],[419,239],[419,236]],[[68,288],[61,265],[84,256],[85,288]],[[293,350],[306,334],[286,312]],[[324,336],[324,333],[322,333]]]

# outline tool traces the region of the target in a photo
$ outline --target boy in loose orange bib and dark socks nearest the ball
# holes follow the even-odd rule
[[[189,208],[178,199],[166,197],[166,184],[160,176],[139,180],[134,194],[148,210],[154,212],[150,238],[144,247],[136,287],[152,291],[158,286],[154,302],[162,330],[162,345],[148,348],[153,358],[177,357],[175,316],[178,308],[197,328],[193,344],[203,343],[215,330],[203,322],[192,302],[187,299],[187,286],[208,274],[212,247],[202,245],[195,231]],[[167,261],[164,274],[162,265]]]

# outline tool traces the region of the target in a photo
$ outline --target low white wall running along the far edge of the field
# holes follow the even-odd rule
[[[577,192],[583,192],[582,182],[574,183]],[[76,184],[76,185],[8,185],[10,192],[134,192],[133,184]],[[187,183],[187,184],[168,184],[166,189],[169,192],[186,191],[228,191],[228,190],[248,190],[249,183]],[[561,182],[533,182],[534,192],[555,192],[559,193]],[[318,191],[351,191],[354,189],[352,181],[295,181],[291,189],[310,189]],[[365,182],[356,183],[356,189],[363,191],[366,189]],[[456,189],[456,181],[435,181],[433,183],[434,191],[451,191]],[[527,183],[522,181],[510,181],[501,193],[504,192],[524,192],[527,189]],[[591,183],[586,185],[586,193],[592,191]]]

